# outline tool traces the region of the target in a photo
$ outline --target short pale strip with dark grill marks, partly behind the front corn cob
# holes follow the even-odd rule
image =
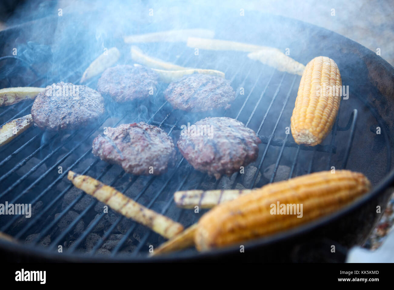
[[[174,193],[175,204],[180,208],[213,208],[217,204],[233,200],[240,195],[250,193],[252,189],[228,190],[186,190]]]

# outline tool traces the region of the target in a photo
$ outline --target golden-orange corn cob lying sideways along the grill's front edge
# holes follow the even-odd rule
[[[195,245],[204,251],[294,228],[339,210],[370,187],[363,174],[349,170],[316,172],[268,184],[203,215],[195,232]],[[278,202],[298,204],[300,209],[302,204],[302,215],[278,214]]]

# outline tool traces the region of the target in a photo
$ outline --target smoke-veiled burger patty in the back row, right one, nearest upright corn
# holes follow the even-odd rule
[[[229,80],[197,73],[171,82],[164,91],[164,96],[175,109],[205,112],[229,109],[235,92]]]

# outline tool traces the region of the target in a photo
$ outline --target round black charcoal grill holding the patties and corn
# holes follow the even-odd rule
[[[242,18],[230,12],[224,13],[223,21],[204,28],[214,29],[219,39],[283,50],[290,48],[290,56],[303,64],[319,55],[336,61],[342,83],[349,86],[349,99],[342,100],[329,137],[318,146],[307,147],[297,145],[292,136],[286,134],[300,76],[253,62],[241,52],[200,50],[196,56],[195,50],[186,47],[185,43],[141,44],[139,47],[148,54],[178,65],[224,71],[237,95],[232,107],[210,114],[173,110],[163,97],[165,86],[162,86],[150,102],[128,106],[108,103],[108,115],[100,126],[59,133],[30,128],[0,148],[0,202],[29,203],[33,208],[30,219],[0,216],[0,231],[18,241],[0,240],[4,255],[35,261],[342,261],[349,247],[366,239],[380,217],[376,206],[381,206],[383,212],[392,193],[393,67],[358,43],[323,28],[263,13],[248,12],[247,17]],[[224,15],[223,11],[220,13]],[[59,81],[78,83],[85,68],[102,48],[101,43],[97,44],[95,37],[85,30],[84,20],[78,17],[46,17],[1,32],[0,43],[4,45],[0,58],[1,87],[46,86]],[[187,19],[184,23],[190,28],[202,25],[190,15],[180,14],[178,18],[180,21]],[[32,27],[42,27],[49,35],[56,35],[55,32],[64,31],[67,23],[76,19],[82,24],[70,33],[64,44],[68,47],[67,53],[63,51],[61,58],[56,55],[59,47],[52,46],[51,37],[44,39],[32,33],[36,31]],[[136,19],[122,32],[135,34],[173,28],[171,21],[156,23],[140,15]],[[203,24],[208,25],[208,22]],[[233,31],[245,33],[234,34]],[[80,39],[91,44],[86,47],[96,50],[84,51],[78,45]],[[26,54],[11,56],[12,47],[18,45]],[[121,50],[119,63],[132,64],[130,47],[117,34],[106,38],[106,47],[112,46]],[[52,48],[52,52],[48,48]],[[43,57],[28,58],[32,51]],[[97,79],[89,80],[87,86],[96,88]],[[244,88],[244,95],[240,94],[240,88]],[[29,101],[0,108],[0,123],[29,114],[31,105]],[[236,118],[262,140],[258,159],[252,164],[258,170],[255,174],[249,173],[249,183],[245,183],[242,174],[215,180],[195,171],[179,153],[175,167],[162,176],[130,176],[119,166],[100,161],[91,153],[91,142],[104,127],[144,121],[162,127],[176,142],[180,125],[209,115]],[[377,127],[381,134],[376,134]],[[262,173],[269,165],[273,165],[273,172],[266,178]],[[245,243],[242,254],[238,246],[209,253],[188,249],[147,260],[149,246],[156,247],[164,239],[111,210],[108,214],[102,213],[103,205],[76,190],[66,177],[68,170],[87,174],[189,226],[204,211],[194,213],[176,208],[172,198],[175,191],[221,188],[229,182],[232,183],[227,186],[231,188],[239,184],[250,188],[262,186],[275,180],[279,166],[289,168],[286,178],[332,167],[360,171],[372,181],[374,188],[364,198],[334,215]],[[251,168],[247,167],[246,171]],[[62,253],[58,253],[59,245]],[[327,250],[331,245],[336,245],[337,253]]]

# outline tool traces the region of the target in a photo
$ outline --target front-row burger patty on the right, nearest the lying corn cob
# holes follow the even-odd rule
[[[261,141],[242,122],[208,117],[194,125],[182,130],[177,146],[195,169],[219,179],[256,160]]]

